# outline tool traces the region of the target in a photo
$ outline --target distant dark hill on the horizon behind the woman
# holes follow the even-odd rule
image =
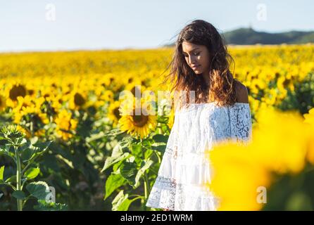
[[[227,44],[306,44],[314,43],[314,32],[290,31],[280,33],[258,32],[252,28],[239,28],[224,32]],[[166,46],[173,46],[168,44]]]

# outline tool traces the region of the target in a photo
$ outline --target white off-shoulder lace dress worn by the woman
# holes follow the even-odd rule
[[[158,176],[146,206],[175,211],[216,210],[219,198],[203,184],[211,182],[208,150],[215,143],[251,139],[249,103],[218,106],[192,103],[176,110]]]

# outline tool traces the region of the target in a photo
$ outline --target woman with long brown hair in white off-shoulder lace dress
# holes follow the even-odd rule
[[[183,92],[146,206],[217,210],[219,198],[204,185],[213,173],[208,153],[219,141],[251,138],[248,91],[233,78],[229,58],[211,23],[194,20],[180,32],[168,78],[172,91]]]

